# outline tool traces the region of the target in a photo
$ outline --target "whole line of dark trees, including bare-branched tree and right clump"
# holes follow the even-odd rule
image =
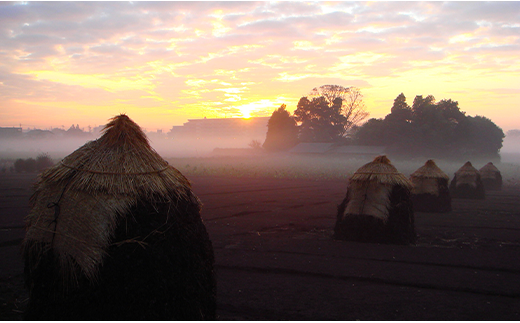
[[[357,88],[324,85],[302,97],[291,116],[282,105],[267,125],[263,147],[284,151],[299,142],[386,146],[404,156],[498,157],[504,132],[484,116],[467,116],[458,102],[417,95],[410,106],[403,93],[385,118],[368,117]],[[360,125],[361,124],[361,125]]]

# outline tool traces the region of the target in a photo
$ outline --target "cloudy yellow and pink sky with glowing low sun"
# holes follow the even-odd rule
[[[520,2],[2,2],[0,126],[270,116],[321,85],[520,129]]]

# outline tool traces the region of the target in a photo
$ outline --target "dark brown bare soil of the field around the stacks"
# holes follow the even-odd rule
[[[0,174],[0,319],[27,303],[20,243],[35,175]],[[221,320],[519,320],[520,189],[416,212],[417,245],[332,240],[344,181],[190,177]]]

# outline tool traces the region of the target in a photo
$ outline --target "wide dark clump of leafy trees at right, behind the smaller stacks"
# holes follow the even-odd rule
[[[457,101],[435,102],[432,95],[415,97],[412,107],[403,93],[394,100],[391,113],[371,119],[355,136],[358,144],[385,145],[401,155],[437,157],[486,156],[496,158],[504,133],[491,120],[469,117]]]

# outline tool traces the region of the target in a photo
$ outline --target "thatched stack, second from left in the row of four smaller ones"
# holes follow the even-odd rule
[[[451,196],[449,176],[433,160],[428,160],[410,175],[414,211],[449,212]]]

